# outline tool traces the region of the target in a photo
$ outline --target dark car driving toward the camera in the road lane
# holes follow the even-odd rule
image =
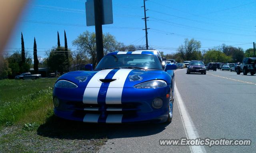
[[[206,66],[202,61],[190,61],[189,65],[187,66],[187,74],[190,73],[201,73],[206,74]]]

